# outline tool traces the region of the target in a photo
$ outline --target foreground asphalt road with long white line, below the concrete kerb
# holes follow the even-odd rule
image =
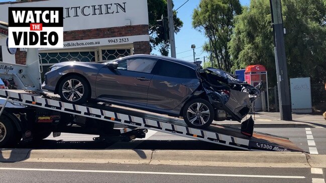
[[[1,182],[322,182],[323,168],[2,163]]]

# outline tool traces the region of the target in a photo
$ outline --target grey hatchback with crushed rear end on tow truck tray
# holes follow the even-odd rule
[[[235,77],[198,63],[133,55],[103,63],[55,64],[45,74],[43,88],[64,102],[112,103],[181,116],[188,126],[203,128],[213,119],[240,122],[259,97],[257,88]]]

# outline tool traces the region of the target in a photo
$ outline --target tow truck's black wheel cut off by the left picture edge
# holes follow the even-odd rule
[[[0,147],[11,147],[17,145],[21,140],[17,137],[19,132],[14,126],[14,122],[6,116],[0,116]]]

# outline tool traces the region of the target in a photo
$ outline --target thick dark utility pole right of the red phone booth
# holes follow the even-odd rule
[[[270,0],[272,24],[274,31],[274,52],[277,74],[277,87],[280,104],[281,120],[292,120],[292,109],[290,103],[289,82],[284,46],[284,28],[282,18],[281,0]]]

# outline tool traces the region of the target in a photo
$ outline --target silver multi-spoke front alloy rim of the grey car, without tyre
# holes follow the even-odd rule
[[[76,79],[69,79],[62,86],[62,94],[68,101],[78,101],[84,95],[84,86]]]

